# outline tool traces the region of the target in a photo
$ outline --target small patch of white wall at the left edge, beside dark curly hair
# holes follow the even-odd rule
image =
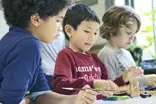
[[[3,16],[3,11],[0,10],[0,39],[8,32],[9,26],[6,24],[6,21]]]

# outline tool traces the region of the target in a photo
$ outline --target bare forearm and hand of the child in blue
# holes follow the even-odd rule
[[[85,86],[84,89],[89,88]],[[82,90],[78,95],[61,95],[54,92],[41,95],[35,104],[94,104],[97,93],[92,90]]]

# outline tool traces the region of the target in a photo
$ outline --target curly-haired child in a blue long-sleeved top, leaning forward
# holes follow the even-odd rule
[[[1,103],[28,103],[24,96],[29,91],[38,104],[93,104],[95,91],[81,91],[78,97],[51,92],[41,69],[39,40],[55,39],[68,1],[2,0],[10,30],[0,41]]]

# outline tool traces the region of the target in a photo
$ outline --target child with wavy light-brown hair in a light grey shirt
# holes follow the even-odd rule
[[[102,21],[100,35],[108,42],[99,52],[99,58],[106,65],[109,79],[114,80],[125,73],[129,67],[136,66],[130,52],[126,49],[139,31],[141,21],[139,15],[128,6],[111,7],[103,15]],[[155,85],[155,75],[146,77],[139,78],[140,88]]]

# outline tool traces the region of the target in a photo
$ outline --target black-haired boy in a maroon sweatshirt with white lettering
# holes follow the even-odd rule
[[[82,88],[89,84],[92,88],[118,90],[115,83],[125,84],[123,76],[116,78],[115,83],[107,80],[104,64],[97,55],[87,53],[97,40],[99,26],[99,18],[88,6],[77,4],[67,10],[63,20],[63,31],[69,40],[69,46],[57,56],[53,76],[54,91],[69,95],[78,91],[64,90],[63,87]],[[141,74],[139,70],[136,73]]]

